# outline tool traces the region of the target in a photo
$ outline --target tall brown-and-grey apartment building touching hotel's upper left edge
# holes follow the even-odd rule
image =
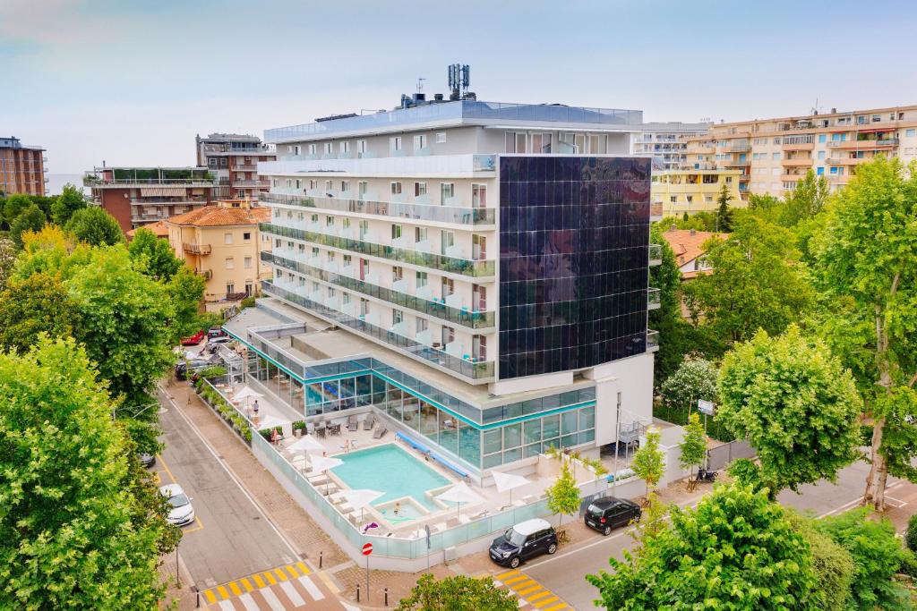
[[[211,134],[194,140],[197,165],[215,176],[215,198],[257,200],[259,193],[269,191],[268,181],[258,175],[258,163],[277,157],[273,147],[261,144],[258,136]]]

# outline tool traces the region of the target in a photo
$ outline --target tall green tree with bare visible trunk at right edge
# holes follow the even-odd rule
[[[878,400],[917,382],[917,166],[878,158],[828,205],[812,237],[820,333],[850,367],[874,421],[865,498],[881,511],[889,461],[884,438],[896,419]],[[900,451],[902,448],[898,447]],[[915,454],[901,456],[897,464]]]

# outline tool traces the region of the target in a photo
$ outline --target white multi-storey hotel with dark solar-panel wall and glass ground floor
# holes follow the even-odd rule
[[[227,325],[249,383],[287,380],[308,420],[375,409],[479,481],[638,434],[660,256],[641,119],[415,94],[267,130],[272,299]]]

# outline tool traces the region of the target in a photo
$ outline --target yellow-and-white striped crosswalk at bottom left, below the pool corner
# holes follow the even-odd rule
[[[340,608],[304,562],[254,573],[201,594],[207,608],[220,611]]]

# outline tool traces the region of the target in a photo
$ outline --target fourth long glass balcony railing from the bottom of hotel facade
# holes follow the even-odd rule
[[[261,202],[281,203],[304,208],[335,210],[342,213],[378,214],[403,219],[436,221],[456,224],[493,224],[493,208],[461,208],[457,206],[436,206],[422,203],[371,202],[365,200],[338,199],[334,197],[306,197],[261,193]]]

